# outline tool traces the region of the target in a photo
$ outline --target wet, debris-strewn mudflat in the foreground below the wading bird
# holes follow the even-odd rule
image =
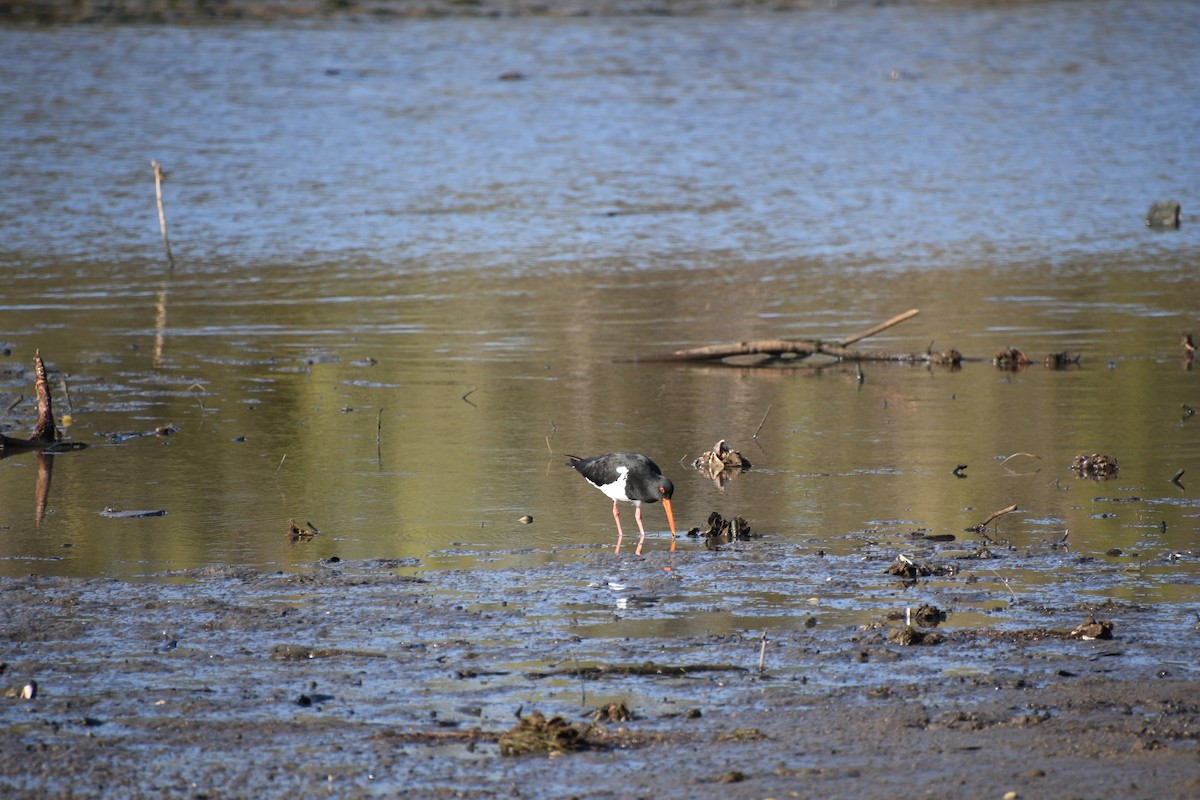
[[[1200,633],[1178,609],[1158,625],[1154,607],[1048,596],[1014,601],[1008,625],[960,626],[930,584],[952,608],[932,646],[896,644],[902,608],[895,620],[878,597],[864,601],[874,622],[815,596],[811,614],[767,612],[760,632],[745,606],[769,602],[738,581],[786,553],[736,547],[4,579],[0,795],[1200,790]],[[899,585],[882,564],[871,583]],[[821,569],[844,581],[840,566]],[[1087,616],[1115,637],[1073,638]],[[559,717],[570,746],[504,754],[534,712]]]

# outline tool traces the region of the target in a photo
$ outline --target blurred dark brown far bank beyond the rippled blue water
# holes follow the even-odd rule
[[[991,0],[967,5],[1020,5]],[[0,23],[205,23],[440,17],[617,17],[964,5],[955,0],[0,0]]]

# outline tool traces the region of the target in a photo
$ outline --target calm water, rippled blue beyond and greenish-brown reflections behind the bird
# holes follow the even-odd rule
[[[991,536],[1136,553],[1100,590],[1194,599],[1166,559],[1200,515],[1200,248],[1140,215],[1189,207],[1200,56],[1163,14],[1198,10],[0,31],[0,396],[41,348],[94,445],[0,462],[0,573],[571,560],[614,531],[563,453],[636,449],[684,529],[851,557],[1016,504]],[[910,307],[865,344],[984,361],[620,361]],[[721,438],[755,464],[724,487],[689,465]],[[1120,476],[1076,479],[1092,452]]]

